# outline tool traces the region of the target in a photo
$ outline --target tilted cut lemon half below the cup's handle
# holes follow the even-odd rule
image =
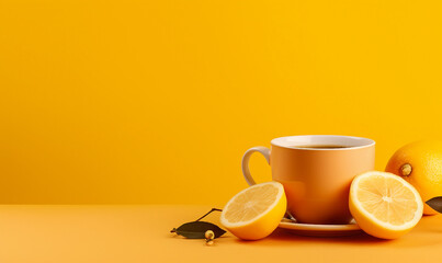
[[[235,195],[224,207],[220,222],[240,239],[257,240],[276,229],[287,201],[277,182],[256,184]]]

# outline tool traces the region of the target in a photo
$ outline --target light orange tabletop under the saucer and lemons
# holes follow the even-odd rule
[[[276,230],[259,241],[226,233],[213,247],[169,231],[208,206],[0,206],[0,262],[440,262],[442,216],[397,240],[365,233],[308,238]],[[218,222],[219,213],[207,221]]]

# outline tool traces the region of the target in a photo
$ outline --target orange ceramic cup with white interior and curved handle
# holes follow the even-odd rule
[[[333,145],[344,148],[303,148]],[[242,173],[249,185],[249,159],[258,151],[272,168],[273,181],[283,184],[287,210],[298,222],[349,224],[349,191],[353,178],[374,169],[375,141],[335,135],[275,138],[271,149],[253,147],[242,157]]]

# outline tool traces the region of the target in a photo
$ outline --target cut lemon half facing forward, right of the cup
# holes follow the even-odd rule
[[[350,211],[365,232],[395,239],[410,231],[422,217],[423,204],[416,188],[386,172],[366,172],[350,187]]]

